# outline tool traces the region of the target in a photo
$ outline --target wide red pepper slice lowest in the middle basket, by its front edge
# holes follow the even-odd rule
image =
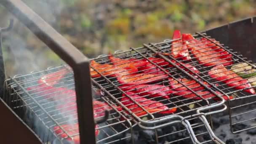
[[[149,113],[159,112],[161,114],[171,114],[173,112],[176,112],[176,108],[169,109],[167,106],[165,106],[164,104],[162,104],[160,102],[146,99],[146,98],[138,96],[132,92],[127,92],[127,94],[131,97],[131,99],[133,99],[138,104],[140,104]],[[123,96],[125,96],[125,95],[123,95]],[[146,115],[147,112],[145,112],[141,107],[139,107],[139,105],[137,105],[133,101],[131,101],[131,99],[125,96],[121,99],[121,102],[128,109],[131,109],[131,111],[133,113],[135,113],[135,115],[137,115],[137,116]],[[121,109],[119,109],[119,110],[121,110]]]

